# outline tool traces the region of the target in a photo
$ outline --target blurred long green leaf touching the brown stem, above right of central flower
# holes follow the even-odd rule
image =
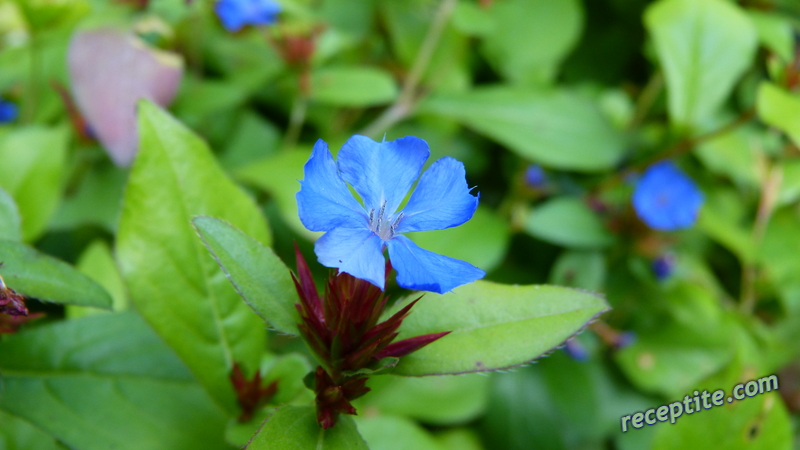
[[[418,111],[459,120],[523,158],[555,169],[608,170],[625,152],[623,136],[592,101],[566,90],[493,86],[437,95]]]

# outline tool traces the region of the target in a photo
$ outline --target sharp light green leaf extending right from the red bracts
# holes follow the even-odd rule
[[[411,300],[398,302],[393,309]],[[427,293],[403,321],[398,339],[451,333],[401,358],[392,373],[442,375],[526,364],[561,345],[607,309],[600,296],[558,286],[476,281],[444,295]]]

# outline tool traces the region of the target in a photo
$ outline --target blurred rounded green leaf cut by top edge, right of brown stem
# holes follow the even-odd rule
[[[481,50],[493,67],[517,84],[551,82],[583,29],[578,0],[509,0],[493,4],[487,13],[494,26]]]

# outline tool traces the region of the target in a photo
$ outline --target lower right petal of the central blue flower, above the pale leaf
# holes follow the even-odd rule
[[[468,262],[420,248],[402,235],[395,236],[387,244],[389,259],[397,270],[397,284],[406,289],[444,294],[486,275]]]

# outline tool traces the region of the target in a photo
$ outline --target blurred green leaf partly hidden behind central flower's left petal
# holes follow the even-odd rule
[[[298,180],[303,179],[303,166],[310,156],[310,149],[280,152],[242,167],[236,172],[236,176],[244,183],[269,192],[278,204],[281,218],[292,231],[309,240],[315,240],[322,233],[308,231],[300,222],[295,198],[300,191]]]

